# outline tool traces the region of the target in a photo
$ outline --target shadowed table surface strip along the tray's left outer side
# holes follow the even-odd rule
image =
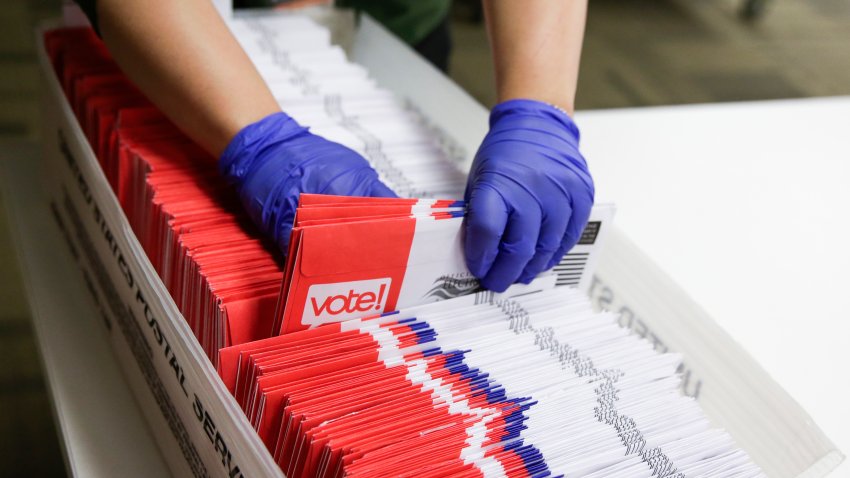
[[[0,145],[0,188],[68,474],[170,476],[50,215],[40,155],[37,144]]]

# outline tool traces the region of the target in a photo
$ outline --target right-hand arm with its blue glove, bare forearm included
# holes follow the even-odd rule
[[[466,188],[470,272],[498,292],[551,269],[578,241],[593,180],[574,109],[586,0],[486,0],[500,103]]]

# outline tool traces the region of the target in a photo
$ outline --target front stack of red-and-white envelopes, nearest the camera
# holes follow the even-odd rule
[[[553,279],[226,348],[219,373],[290,477],[763,476],[681,357]]]

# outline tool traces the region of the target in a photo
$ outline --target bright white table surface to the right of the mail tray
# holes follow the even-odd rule
[[[617,226],[850,452],[850,97],[576,119]]]

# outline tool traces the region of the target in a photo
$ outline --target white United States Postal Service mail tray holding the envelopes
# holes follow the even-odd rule
[[[449,132],[468,162],[487,113],[454,83],[368,17],[313,10],[337,29],[353,61]],[[341,33],[340,33],[341,32]],[[183,320],[101,172],[53,74],[46,81],[48,191],[93,300],[113,324],[115,356],[177,476],[283,476]],[[468,164],[459,164],[467,167]],[[81,276],[82,277],[82,276]],[[771,477],[821,477],[841,453],[808,415],[710,317],[616,230],[591,288],[601,307],[656,346],[684,355],[682,388]],[[119,333],[115,333],[115,331]],[[81,351],[84,353],[84,351]]]

